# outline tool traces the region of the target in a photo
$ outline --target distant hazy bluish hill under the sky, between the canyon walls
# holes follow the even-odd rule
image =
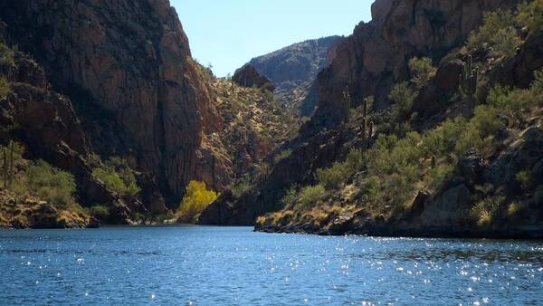
[[[310,94],[311,83],[334,57],[335,46],[341,39],[329,36],[294,43],[253,58],[249,64],[276,86],[278,100],[300,110],[302,116],[310,116],[317,103],[316,92]]]

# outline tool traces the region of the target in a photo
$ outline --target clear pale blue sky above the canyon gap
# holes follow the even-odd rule
[[[348,35],[371,19],[372,0],[170,0],[193,57],[233,73],[252,57],[291,43]],[[340,5],[339,5],[340,4]]]

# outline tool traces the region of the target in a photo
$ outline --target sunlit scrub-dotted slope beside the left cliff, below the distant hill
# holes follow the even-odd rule
[[[298,118],[273,99],[267,89],[246,88],[214,79],[215,108],[224,122],[217,132],[226,160],[232,162],[233,182],[269,171],[264,160],[298,133]]]

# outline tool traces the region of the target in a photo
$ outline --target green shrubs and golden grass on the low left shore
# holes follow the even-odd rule
[[[86,227],[90,215],[76,197],[73,176],[43,160],[23,158],[24,147],[14,147],[14,177],[5,173],[0,192],[0,226],[4,227]],[[5,164],[6,165],[6,164]],[[12,170],[10,170],[12,171]]]

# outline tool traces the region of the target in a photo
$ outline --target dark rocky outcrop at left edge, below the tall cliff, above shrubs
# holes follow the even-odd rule
[[[0,55],[7,59],[0,63],[0,76],[10,83],[10,92],[0,97],[0,140],[20,139],[30,158],[44,159],[74,176],[81,204],[108,206],[115,210],[113,222],[128,223],[129,207],[92,177],[84,160],[91,151],[71,100],[51,91],[43,68],[24,53],[4,49]]]

